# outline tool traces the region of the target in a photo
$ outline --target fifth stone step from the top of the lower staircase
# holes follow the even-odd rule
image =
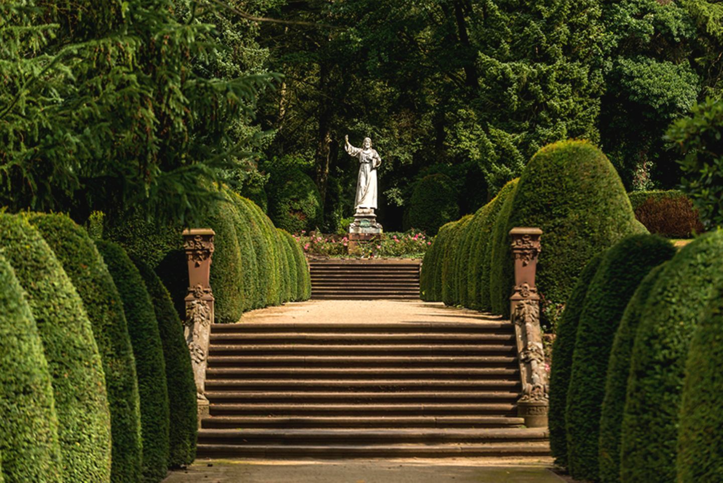
[[[206,371],[208,379],[518,379],[518,369],[437,368],[349,368],[349,367],[227,367]]]

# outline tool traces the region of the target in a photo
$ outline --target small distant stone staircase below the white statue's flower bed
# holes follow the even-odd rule
[[[313,299],[419,298],[419,260],[311,261]]]

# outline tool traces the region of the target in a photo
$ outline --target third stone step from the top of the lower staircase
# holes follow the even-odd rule
[[[260,345],[221,345],[209,347],[212,356],[244,355],[244,354],[308,354],[326,355],[343,354],[350,356],[372,355],[507,355],[515,354],[515,346],[501,343],[487,344],[260,344]]]

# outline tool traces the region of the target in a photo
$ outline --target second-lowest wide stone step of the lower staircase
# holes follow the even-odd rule
[[[200,429],[201,445],[244,444],[389,444],[445,442],[529,442],[547,440],[547,429],[535,428],[380,428],[380,429]]]

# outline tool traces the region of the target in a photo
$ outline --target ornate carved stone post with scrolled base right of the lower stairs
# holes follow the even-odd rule
[[[547,427],[549,385],[544,369],[539,295],[535,286],[540,235],[542,230],[539,228],[515,227],[510,230],[515,259],[515,288],[510,297],[510,314],[515,326],[522,378],[517,413],[525,419],[527,427]]]

